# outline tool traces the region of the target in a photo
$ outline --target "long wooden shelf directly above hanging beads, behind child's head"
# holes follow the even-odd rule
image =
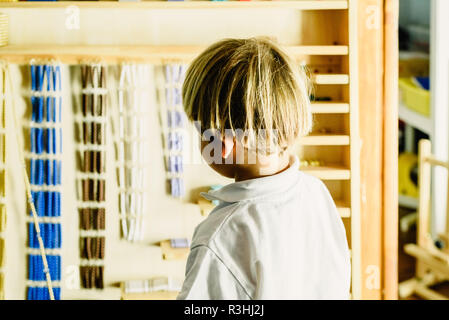
[[[0,58],[11,63],[29,63],[31,59],[58,60],[67,64],[88,61],[103,63],[190,62],[205,48],[205,46],[28,44],[0,47]],[[348,47],[287,46],[286,50],[293,57],[300,59],[303,55],[344,55],[347,54]],[[332,79],[336,81],[335,76],[338,75],[317,75],[316,77],[321,81],[331,81]]]

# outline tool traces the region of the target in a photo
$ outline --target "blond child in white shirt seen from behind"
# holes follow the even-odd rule
[[[235,179],[195,229],[178,299],[348,299],[346,233],[325,187],[290,155],[311,129],[307,77],[274,42],[225,39],[190,65],[184,108],[202,156]]]

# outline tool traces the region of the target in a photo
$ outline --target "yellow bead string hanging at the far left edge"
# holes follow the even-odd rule
[[[6,229],[6,69],[0,65],[0,300],[5,298],[5,275],[3,266],[5,264],[5,238]]]

